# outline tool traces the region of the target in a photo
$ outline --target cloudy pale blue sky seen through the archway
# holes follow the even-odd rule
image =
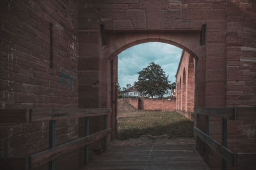
[[[169,80],[177,72],[182,49],[168,43],[149,42],[134,45],[118,54],[118,82],[120,87],[138,81],[138,72],[154,62],[160,65]]]

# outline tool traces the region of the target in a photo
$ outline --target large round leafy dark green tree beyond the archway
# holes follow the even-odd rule
[[[161,66],[156,65],[154,62],[149,63],[146,68],[143,68],[139,73],[138,81],[134,82],[134,86],[140,91],[142,96],[163,97],[163,95],[170,88],[168,75]]]

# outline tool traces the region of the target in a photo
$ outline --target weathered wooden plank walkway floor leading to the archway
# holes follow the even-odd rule
[[[191,144],[146,143],[112,146],[83,168],[95,169],[209,169]]]

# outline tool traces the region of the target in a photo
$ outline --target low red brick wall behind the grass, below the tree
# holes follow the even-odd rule
[[[127,98],[136,109],[175,111],[176,98]]]

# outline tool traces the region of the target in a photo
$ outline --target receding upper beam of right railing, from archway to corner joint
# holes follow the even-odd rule
[[[228,120],[236,119],[235,107],[194,107],[196,114],[204,114],[216,118],[223,118]]]

